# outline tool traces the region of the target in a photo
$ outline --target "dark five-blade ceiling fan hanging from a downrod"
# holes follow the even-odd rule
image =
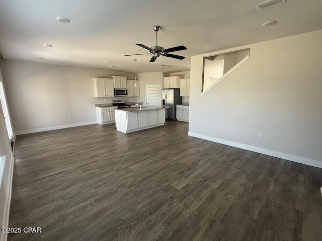
[[[149,54],[153,54],[152,58],[150,59],[150,62],[154,62],[156,60],[156,58],[159,57],[160,55],[170,57],[170,58],[174,58],[174,59],[184,59],[185,58],[184,56],[175,55],[175,54],[169,54],[170,52],[175,52],[175,51],[180,51],[180,50],[187,49],[183,45],[173,47],[173,48],[169,48],[169,49],[165,49],[164,47],[157,46],[157,32],[159,31],[160,28],[161,27],[158,26],[158,25],[153,26],[153,30],[156,33],[156,45],[155,46],[149,48],[149,47],[147,47],[147,46],[145,46],[143,44],[136,44],[136,45],[138,45],[138,46],[150,51]],[[128,54],[128,55],[124,55],[124,56],[132,56],[132,55],[142,55],[142,54]]]

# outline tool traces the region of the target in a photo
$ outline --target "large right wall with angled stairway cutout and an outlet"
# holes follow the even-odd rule
[[[320,30],[192,57],[189,133],[322,167],[321,40]],[[201,96],[203,57],[249,47],[250,59]]]

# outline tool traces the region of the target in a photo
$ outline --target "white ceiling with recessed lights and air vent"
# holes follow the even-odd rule
[[[287,0],[258,11],[264,0],[2,0],[0,53],[4,59],[134,72],[190,69],[190,57],[322,29],[321,0]],[[63,24],[57,16],[70,19]],[[263,23],[277,20],[274,26]],[[141,53],[135,43],[184,45],[184,60]],[[322,41],[322,40],[321,40]],[[51,44],[52,48],[43,44]],[[147,53],[146,51],[143,53]],[[37,57],[43,57],[38,60]],[[108,64],[104,61],[111,60]],[[114,68],[109,66],[113,65]]]

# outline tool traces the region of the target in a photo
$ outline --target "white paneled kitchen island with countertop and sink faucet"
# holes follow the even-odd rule
[[[123,133],[137,132],[165,125],[164,106],[115,109],[116,130]]]

